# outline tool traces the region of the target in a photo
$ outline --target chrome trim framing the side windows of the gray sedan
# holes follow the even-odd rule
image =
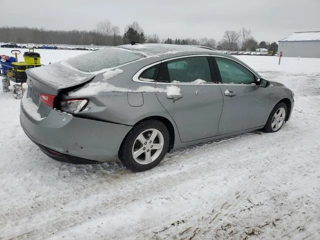
[[[237,62],[238,64],[244,66],[246,69],[248,69],[254,76],[256,76],[257,78],[257,82],[259,81],[259,77],[254,73],[252,72],[249,68],[247,68],[245,65],[243,65],[241,62],[235,60],[235,59],[232,59],[230,57],[227,57],[227,56],[221,56],[221,55],[214,55],[214,54],[193,54],[193,55],[185,55],[185,56],[175,56],[175,57],[171,57],[171,58],[168,58],[168,59],[164,59],[164,60],[161,60],[161,61],[157,61],[157,62],[154,62],[154,63],[151,63],[147,66],[144,66],[142,67],[140,70],[138,70],[133,76],[132,76],[132,80],[135,81],[135,82],[143,82],[143,83],[153,83],[153,84],[168,84],[168,85],[230,85],[230,86],[252,86],[250,84],[238,84],[238,83],[188,83],[188,82],[179,82],[179,83],[173,83],[173,82],[159,82],[159,81],[144,81],[144,80],[140,80],[139,79],[139,75],[144,71],[146,70],[147,68],[150,68],[156,64],[159,64],[159,63],[162,63],[162,62],[166,62],[166,61],[170,61],[170,60],[174,60],[174,59],[179,59],[179,58],[185,58],[185,57],[193,57],[193,56],[214,56],[214,57],[223,57],[223,58],[227,58],[229,60],[233,60],[235,62]]]

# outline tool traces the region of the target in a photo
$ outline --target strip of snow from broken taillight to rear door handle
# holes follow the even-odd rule
[[[69,96],[92,96],[98,95],[101,92],[166,92],[167,95],[178,95],[181,94],[181,89],[174,85],[167,86],[166,88],[140,86],[136,89],[129,89],[98,81],[89,83],[85,88],[69,92]]]

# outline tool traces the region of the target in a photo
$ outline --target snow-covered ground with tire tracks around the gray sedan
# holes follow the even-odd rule
[[[43,64],[84,52],[37,51]],[[238,57],[294,91],[290,121],[139,173],[50,159],[0,91],[0,239],[320,239],[320,59]]]

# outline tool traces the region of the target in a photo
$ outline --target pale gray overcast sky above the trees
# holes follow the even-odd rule
[[[293,31],[320,30],[320,0],[0,0],[1,25],[94,29],[108,18],[124,27],[138,21],[162,38],[212,37],[251,29],[258,40],[278,41]]]

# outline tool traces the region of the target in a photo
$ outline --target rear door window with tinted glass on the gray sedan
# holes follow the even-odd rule
[[[211,82],[211,72],[206,56],[183,57],[161,63],[160,81],[172,83]]]

